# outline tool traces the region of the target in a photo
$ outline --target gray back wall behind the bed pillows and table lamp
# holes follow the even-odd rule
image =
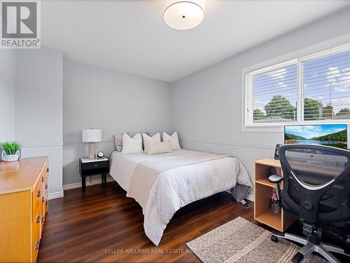
[[[78,159],[88,155],[81,130],[101,128],[97,151],[115,150],[113,135],[171,128],[169,83],[64,59],[63,184],[81,182]]]

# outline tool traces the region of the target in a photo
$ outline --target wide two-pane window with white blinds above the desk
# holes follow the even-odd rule
[[[350,46],[246,72],[245,88],[245,126],[350,122]]]

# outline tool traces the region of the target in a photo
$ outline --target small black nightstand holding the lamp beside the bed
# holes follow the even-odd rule
[[[106,188],[109,159],[79,159],[79,173],[81,176],[81,191],[85,192],[86,177],[90,175],[102,175],[102,187]]]

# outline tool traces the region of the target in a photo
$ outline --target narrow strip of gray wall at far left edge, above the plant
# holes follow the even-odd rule
[[[15,140],[15,50],[0,49],[0,61],[0,142],[3,142]]]

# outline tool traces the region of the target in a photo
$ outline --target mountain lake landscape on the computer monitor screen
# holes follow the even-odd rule
[[[321,144],[347,149],[346,124],[284,126],[285,144]]]

